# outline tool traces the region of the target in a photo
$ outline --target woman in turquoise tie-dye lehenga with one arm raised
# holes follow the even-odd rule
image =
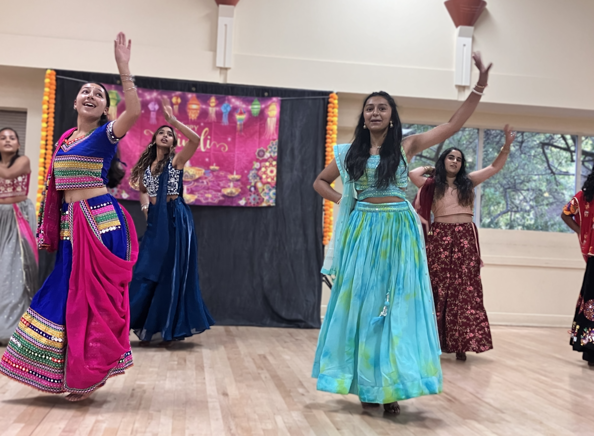
[[[407,162],[451,137],[472,115],[489,69],[446,124],[402,139],[394,99],[365,99],[352,144],[334,147],[335,159],[315,190],[340,204],[324,274],[335,277],[318,339],[312,376],[317,388],[356,394],[364,408],[442,390],[440,342],[425,242],[419,217],[405,200]],[[330,184],[340,176],[343,194]]]

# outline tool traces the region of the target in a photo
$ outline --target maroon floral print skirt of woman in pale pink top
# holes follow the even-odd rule
[[[433,223],[428,235],[429,277],[445,353],[481,353],[493,347],[477,237],[473,223]]]

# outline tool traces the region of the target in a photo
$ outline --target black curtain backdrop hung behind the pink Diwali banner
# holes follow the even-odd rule
[[[119,76],[56,70],[54,143],[77,114],[81,81],[119,84]],[[73,80],[74,79],[74,80]],[[198,236],[204,301],[219,325],[320,327],[322,201],[312,188],[324,168],[330,91],[293,90],[137,77],[148,89],[249,97],[281,97],[276,206],[190,206]],[[125,162],[131,168],[135,162]],[[143,235],[138,201],[121,200]],[[42,280],[53,255],[40,258]]]

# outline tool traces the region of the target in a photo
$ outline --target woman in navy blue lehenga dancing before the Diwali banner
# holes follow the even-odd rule
[[[147,230],[130,284],[130,328],[141,346],[162,339],[163,346],[214,324],[198,285],[198,244],[192,213],[182,197],[184,165],[200,137],[179,122],[163,99],[165,121],[188,143],[175,154],[173,128],[162,126],[132,169],[131,184],[140,188]]]

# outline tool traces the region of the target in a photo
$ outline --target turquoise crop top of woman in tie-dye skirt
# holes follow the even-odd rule
[[[355,181],[355,189],[358,192],[357,200],[365,200],[372,197],[399,197],[406,200],[406,185],[408,184],[408,162],[406,154],[400,147],[400,165],[396,170],[396,181],[391,182],[387,188],[375,187],[375,170],[380,165],[380,156],[373,154],[367,159],[367,166],[361,178]]]

